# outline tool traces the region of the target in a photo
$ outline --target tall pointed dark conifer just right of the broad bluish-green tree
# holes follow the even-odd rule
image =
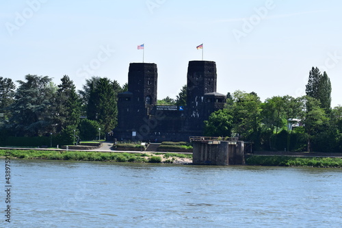
[[[75,129],[79,124],[81,116],[81,101],[76,93],[75,84],[64,75],[61,79],[62,83],[58,85],[55,93],[55,115],[53,122],[56,126],[56,132],[60,133],[67,126]]]

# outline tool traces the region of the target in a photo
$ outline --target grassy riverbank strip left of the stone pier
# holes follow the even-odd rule
[[[103,153],[83,151],[39,151],[39,150],[0,150],[0,156],[10,152],[11,157],[36,160],[69,160],[91,162],[139,162],[139,163],[176,163],[189,164],[192,154],[178,153]]]

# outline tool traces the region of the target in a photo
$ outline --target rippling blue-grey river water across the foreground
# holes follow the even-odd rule
[[[12,160],[11,172],[1,227],[342,227],[341,169]]]

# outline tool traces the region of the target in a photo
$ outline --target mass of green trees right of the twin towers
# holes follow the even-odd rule
[[[255,92],[227,94],[226,107],[205,121],[206,136],[239,136],[254,149],[342,152],[342,107],[331,108],[331,82],[312,68],[306,96],[272,97]]]

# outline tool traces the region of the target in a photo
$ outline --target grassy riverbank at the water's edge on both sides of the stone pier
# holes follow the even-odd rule
[[[48,150],[0,150],[0,157],[6,151],[12,158],[29,160],[70,160],[88,162],[139,162],[164,164],[192,164],[192,154],[100,151],[48,151]],[[282,155],[246,155],[248,166],[298,166],[317,168],[342,168],[341,157],[295,157]]]

